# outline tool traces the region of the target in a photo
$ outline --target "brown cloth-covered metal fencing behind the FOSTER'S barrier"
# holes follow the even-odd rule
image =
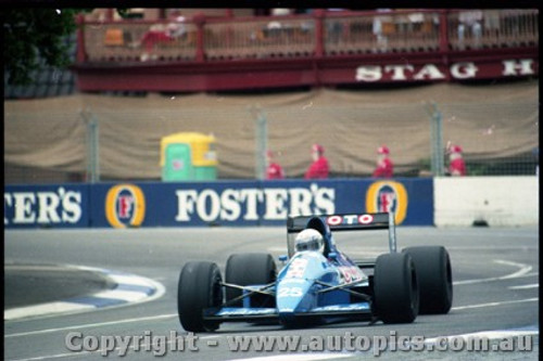
[[[375,166],[375,151],[382,143],[387,143],[392,150],[394,177],[444,176],[452,145],[463,149],[468,177],[535,175],[539,165],[539,108],[531,101],[393,106],[364,104],[351,108],[336,104],[318,107],[311,103],[304,106],[268,105],[262,108],[227,105],[180,108],[179,113],[176,112],[159,118],[185,116],[190,119],[202,116],[210,119],[210,127],[214,127],[213,132],[219,140],[219,179],[263,179],[266,150],[279,154],[277,160],[283,165],[288,178],[301,178],[304,168],[311,163],[310,146],[313,142],[324,143],[326,146],[332,178],[370,177]],[[112,128],[111,121],[102,126],[115,113],[118,113],[118,119],[126,121],[126,126],[116,124]],[[159,141],[130,138],[135,133],[144,134],[146,129],[130,136],[123,133],[126,127],[138,124],[135,121],[138,117],[141,117],[143,124],[144,118],[153,113],[160,114],[161,109],[149,109],[146,114],[115,108],[87,109],[79,114],[65,114],[64,117],[55,116],[51,132],[61,129],[62,121],[66,121],[66,129],[74,128],[66,134],[59,134],[73,137],[73,144],[77,147],[73,150],[74,157],[64,160],[68,162],[66,164],[55,159],[55,156],[65,155],[70,150],[53,152],[59,139],[50,137],[43,130],[42,114],[8,114],[8,126],[4,128],[5,183],[160,180],[159,162],[154,159],[159,154]],[[244,117],[244,123],[236,120],[241,117]],[[319,117],[321,123],[316,120]],[[24,124],[12,126],[23,118]],[[74,118],[78,119],[77,126],[73,124]],[[40,125],[41,130],[33,130],[33,124]],[[198,119],[191,125],[191,130],[199,131],[197,125]],[[239,125],[242,125],[241,131]],[[187,127],[187,124],[182,123],[182,126]],[[156,120],[155,127],[160,128],[161,123]],[[179,128],[173,123],[168,127]],[[243,150],[243,154],[236,150],[236,146],[240,146],[237,137],[244,137],[244,144],[252,144]],[[151,160],[140,165],[153,168],[153,171],[156,168],[156,177],[141,178],[138,173],[130,172],[129,168],[116,176],[102,172],[100,158],[111,159],[116,156],[109,151],[112,143],[122,143],[123,146],[126,144],[123,149],[125,156],[130,156],[130,153],[138,154],[135,157],[146,155]],[[134,143],[137,151],[128,149],[129,143]],[[43,164],[31,164],[31,155],[24,158],[24,162],[18,162],[16,159],[23,157],[11,157],[18,147],[43,152],[50,150],[51,155]]]

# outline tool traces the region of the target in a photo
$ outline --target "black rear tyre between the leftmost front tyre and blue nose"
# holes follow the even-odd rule
[[[253,284],[269,284],[276,280],[277,271],[274,258],[269,254],[235,254],[226,261],[226,283],[239,286]],[[226,287],[227,302],[241,296],[239,288]],[[243,300],[237,300],[228,306],[242,307]],[[253,295],[251,307],[275,307],[275,298],[266,295]]]

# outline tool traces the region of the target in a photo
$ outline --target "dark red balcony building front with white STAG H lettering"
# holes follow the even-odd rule
[[[154,11],[154,12],[153,12]],[[533,77],[536,9],[142,10],[80,16],[80,91],[198,92]]]

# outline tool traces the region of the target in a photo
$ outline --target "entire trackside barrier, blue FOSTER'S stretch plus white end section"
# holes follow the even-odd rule
[[[283,225],[394,211],[402,225],[539,224],[539,177],[5,185],[4,228]]]

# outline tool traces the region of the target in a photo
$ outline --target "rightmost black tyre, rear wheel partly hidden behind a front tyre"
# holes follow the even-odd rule
[[[413,258],[417,270],[420,313],[447,313],[453,305],[453,274],[445,247],[417,246],[403,252]]]

